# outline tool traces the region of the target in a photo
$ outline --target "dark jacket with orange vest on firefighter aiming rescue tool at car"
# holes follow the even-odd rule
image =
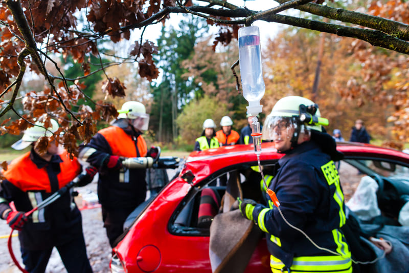
[[[88,144],[80,146],[79,158],[99,167],[98,199],[104,208],[136,207],[146,198],[146,169],[112,170],[106,167],[111,155],[145,157],[147,146],[140,132],[114,123],[100,130]]]

